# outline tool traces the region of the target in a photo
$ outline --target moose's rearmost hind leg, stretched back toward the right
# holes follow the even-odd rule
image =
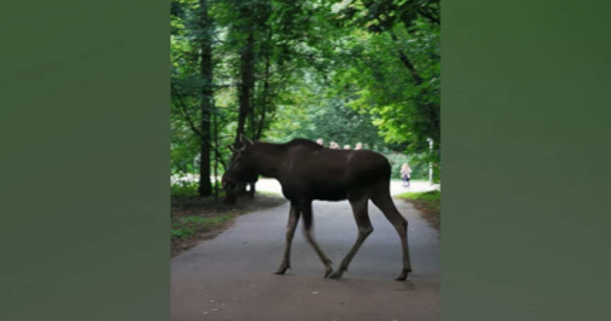
[[[397,281],[404,281],[408,277],[408,273],[412,271],[411,262],[409,260],[408,246],[408,221],[399,213],[397,207],[392,202],[388,186],[380,189],[379,193],[371,197],[371,201],[384,213],[384,216],[390,221],[392,226],[397,230],[401,238],[401,248],[403,249],[403,270],[401,274],[395,278]]]

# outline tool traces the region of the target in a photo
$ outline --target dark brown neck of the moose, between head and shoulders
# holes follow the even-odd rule
[[[255,142],[252,147],[252,157],[257,164],[256,171],[263,176],[278,179],[280,170],[286,160],[286,147],[284,144],[270,142]]]

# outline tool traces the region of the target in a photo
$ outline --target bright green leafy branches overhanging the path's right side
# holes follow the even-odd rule
[[[370,113],[386,142],[428,152],[426,138],[436,150],[440,142],[440,28],[430,15],[438,2],[417,9],[414,3],[352,1],[338,11],[340,20],[370,32],[355,29],[343,38],[343,53],[353,59],[334,74],[334,92],[356,92],[348,105]],[[438,156],[430,155],[436,163]]]

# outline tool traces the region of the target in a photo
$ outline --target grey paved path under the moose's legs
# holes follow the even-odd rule
[[[274,191],[273,182],[257,185]],[[391,190],[395,194],[397,186]],[[240,216],[213,240],[174,257],[170,320],[439,320],[438,234],[411,204],[395,204],[409,221],[414,270],[409,281],[393,281],[401,269],[400,240],[371,202],[374,231],[342,279],[323,278],[324,266],[305,243],[301,221],[292,269],[274,275],[284,250],[287,203]],[[316,240],[336,268],[356,240],[350,206],[347,201],[315,201],[313,210]]]

